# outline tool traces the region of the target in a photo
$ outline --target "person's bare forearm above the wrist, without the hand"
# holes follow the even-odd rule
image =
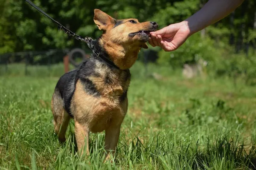
[[[203,8],[183,22],[189,26],[190,34],[194,34],[226,17],[239,7],[243,1],[209,0]]]

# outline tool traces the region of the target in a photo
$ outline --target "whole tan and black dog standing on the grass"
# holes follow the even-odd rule
[[[54,132],[61,142],[70,118],[75,121],[76,142],[80,154],[85,141],[89,154],[89,133],[105,130],[105,150],[115,151],[120,126],[128,108],[129,68],[141,48],[148,48],[149,32],[157,23],[140,23],[137,19],[116,20],[94,10],[94,22],[103,31],[95,41],[99,55],[92,54],[78,69],[64,74],[52,96]],[[110,62],[106,62],[108,58]]]

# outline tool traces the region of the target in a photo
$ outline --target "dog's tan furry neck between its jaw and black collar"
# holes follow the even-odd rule
[[[124,48],[122,45],[116,45],[111,41],[103,42],[101,37],[95,42],[95,47],[97,51],[100,51],[101,56],[110,59],[121,70],[131,68],[141,48],[132,45],[127,45],[128,48]]]

